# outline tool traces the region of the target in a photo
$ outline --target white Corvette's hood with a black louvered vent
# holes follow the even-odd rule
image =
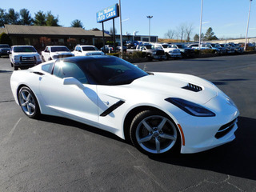
[[[136,79],[130,86],[138,91],[150,90],[152,94],[161,94],[166,98],[183,98],[202,105],[218,93],[213,83],[189,74],[154,73]]]

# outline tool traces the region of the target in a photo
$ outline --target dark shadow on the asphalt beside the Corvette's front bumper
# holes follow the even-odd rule
[[[238,118],[236,139],[226,145],[198,154],[150,157],[158,162],[229,174],[256,180],[256,119]]]

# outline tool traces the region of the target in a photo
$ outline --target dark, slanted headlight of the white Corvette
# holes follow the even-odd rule
[[[184,110],[186,113],[191,114],[196,117],[214,117],[215,114],[210,110],[207,110],[205,107],[200,106],[194,102],[186,101],[182,98],[166,98],[167,102],[178,106],[181,110]]]

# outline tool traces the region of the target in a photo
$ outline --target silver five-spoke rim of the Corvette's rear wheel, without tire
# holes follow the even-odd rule
[[[35,113],[35,101],[30,91],[22,89],[19,92],[19,102],[22,106],[22,110],[29,116]]]

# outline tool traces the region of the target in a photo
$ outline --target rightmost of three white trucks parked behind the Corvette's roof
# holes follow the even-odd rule
[[[94,56],[104,54],[101,50],[98,50],[97,47],[86,45],[75,46],[72,53],[74,54],[74,56]]]

